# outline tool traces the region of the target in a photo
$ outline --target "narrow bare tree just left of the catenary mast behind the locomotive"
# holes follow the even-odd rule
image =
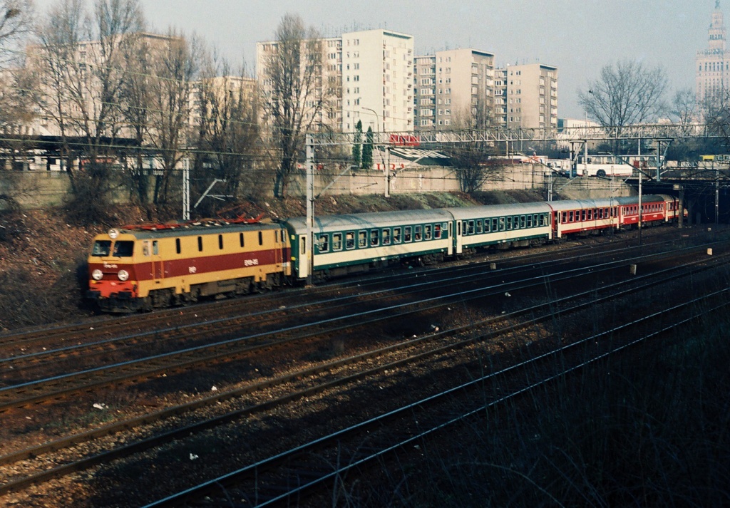
[[[191,95],[198,77],[202,46],[196,37],[186,38],[171,29],[162,47],[153,52],[150,68],[149,145],[161,162],[155,178],[153,201],[164,204],[172,198],[174,171],[188,156],[193,141]]]

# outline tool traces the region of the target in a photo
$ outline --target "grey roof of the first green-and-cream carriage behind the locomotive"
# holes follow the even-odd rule
[[[452,220],[449,212],[442,209],[401,210],[399,212],[368,212],[348,215],[315,216],[315,231],[347,231],[366,228],[391,228],[423,223],[439,223]],[[284,221],[296,233],[307,230],[307,218],[296,217]]]

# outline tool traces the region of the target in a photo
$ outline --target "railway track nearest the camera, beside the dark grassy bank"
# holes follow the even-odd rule
[[[409,447],[428,444],[440,433],[458,426],[466,418],[480,417],[487,409],[499,409],[507,401],[524,396],[558,378],[575,374],[607,356],[623,353],[630,347],[671,332],[678,326],[710,312],[726,309],[728,290],[723,289],[699,299],[685,302],[653,315],[640,318],[602,334],[591,335],[548,353],[490,372],[469,382],[452,386],[425,399],[406,404],[382,415],[369,418],[340,431],[321,436],[303,445],[277,453],[272,457],[243,466],[233,472],[202,482],[199,485],[166,496],[164,499],[145,504],[145,508],[180,507],[190,504],[223,506],[241,503],[245,506],[285,506],[291,500],[301,501],[312,490],[331,490],[342,477],[353,469],[361,469],[386,455],[402,453]],[[687,307],[704,305],[721,298],[723,304],[712,304],[710,309],[692,312],[677,319],[679,311]],[[674,315],[670,323],[660,329],[621,342],[608,340],[618,331],[625,332],[646,324],[649,320]],[[588,346],[576,352],[579,347]],[[559,366],[559,369],[556,369]],[[484,396],[485,385],[499,382],[499,396]],[[479,394],[474,396],[474,394]],[[458,399],[459,404],[454,404]],[[483,402],[484,399],[487,401]],[[473,401],[479,401],[473,404]],[[471,403],[471,404],[470,404]],[[466,406],[466,407],[465,407]],[[454,415],[454,409],[460,412]],[[387,432],[383,432],[387,428]]]

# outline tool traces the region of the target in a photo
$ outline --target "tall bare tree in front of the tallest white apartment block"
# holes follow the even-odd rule
[[[264,109],[272,122],[272,139],[280,157],[274,196],[285,196],[289,177],[303,158],[304,135],[322,126],[332,96],[323,82],[323,42],[299,15],[285,15],[264,61]]]

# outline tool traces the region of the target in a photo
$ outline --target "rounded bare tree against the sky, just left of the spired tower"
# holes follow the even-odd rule
[[[628,126],[656,120],[666,111],[667,84],[662,66],[650,69],[640,61],[623,60],[604,66],[587,91],[578,91],[578,102],[602,126]]]

